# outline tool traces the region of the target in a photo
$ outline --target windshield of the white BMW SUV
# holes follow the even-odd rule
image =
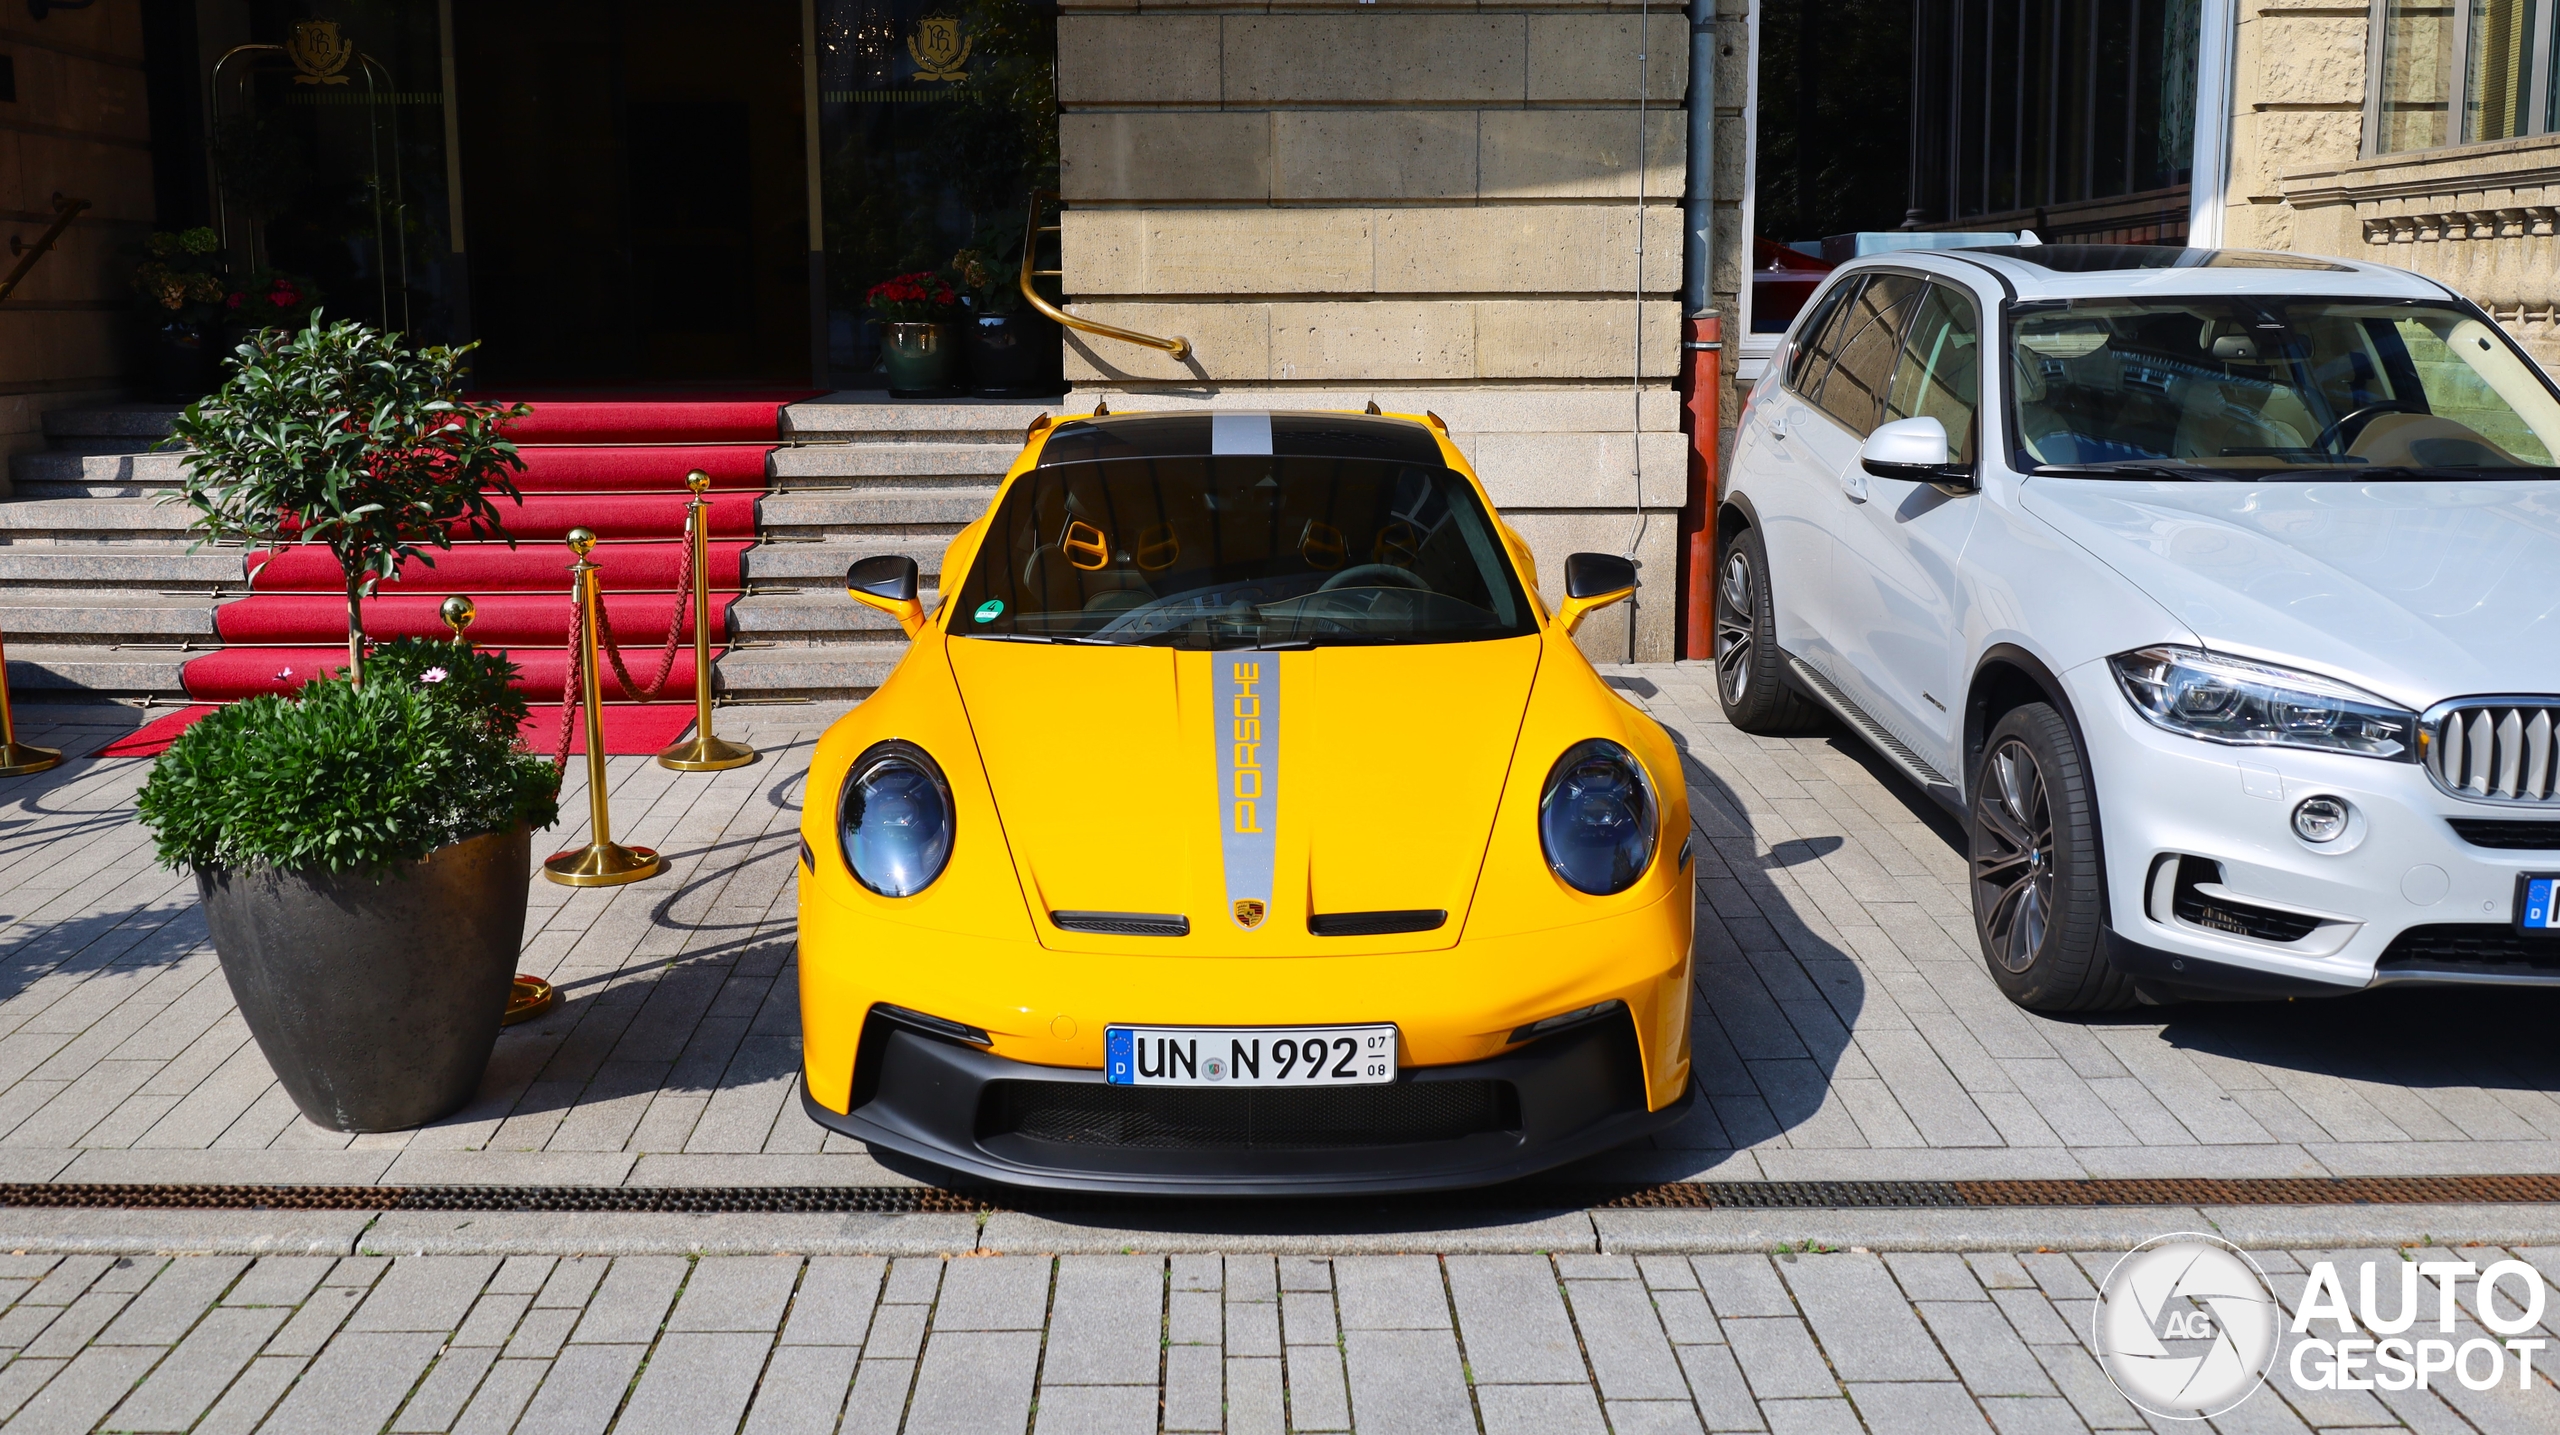
[[[2560,402],[2450,304],[2140,299],[2020,304],[2022,473],[2547,478]]]

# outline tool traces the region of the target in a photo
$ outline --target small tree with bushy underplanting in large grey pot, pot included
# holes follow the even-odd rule
[[[366,652],[361,596],[512,494],[499,409],[458,396],[461,353],[364,325],[248,340],[174,435],[207,537],[287,527],[346,573],[348,663],[233,703],[151,767],[141,821],[195,870],[259,1051],[333,1131],[435,1120],[479,1085],[525,936],[532,829],[558,816],[525,752],[515,665],[461,642]],[[430,560],[433,563],[433,560]]]

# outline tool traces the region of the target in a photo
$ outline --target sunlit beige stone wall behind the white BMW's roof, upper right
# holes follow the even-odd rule
[[[2396,263],[2560,368],[2560,136],[2360,159],[2365,5],[2243,5],[2225,240]]]

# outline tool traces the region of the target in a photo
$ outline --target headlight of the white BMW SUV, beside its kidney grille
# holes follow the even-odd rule
[[[2132,706],[2176,734],[2396,762],[2417,757],[2417,714],[2319,673],[2199,647],[2143,647],[2107,663]]]

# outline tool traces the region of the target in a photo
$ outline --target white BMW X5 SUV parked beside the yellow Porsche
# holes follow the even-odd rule
[[[2560,985],[2560,391],[2371,263],[1830,276],[1718,512],[1725,716],[1838,714],[2038,1010]]]

